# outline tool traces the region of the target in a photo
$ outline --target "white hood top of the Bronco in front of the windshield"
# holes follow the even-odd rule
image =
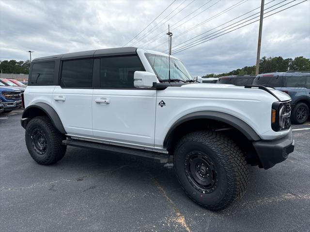
[[[254,88],[254,87],[253,88],[245,88],[244,86],[234,86],[234,85],[228,85],[228,84],[195,83],[195,84],[183,85],[182,87],[183,88],[205,88],[205,89],[217,88],[218,91],[221,91],[221,89],[225,89],[225,90],[232,89],[234,92],[236,90],[240,90],[240,91],[253,91],[253,93],[255,93],[255,91],[263,91],[266,94],[272,95],[271,93],[269,93],[269,92],[267,92],[267,91],[265,91],[263,89],[258,89],[258,88]],[[286,94],[286,93],[284,93],[282,91],[279,91],[277,89],[270,88],[270,87],[267,87],[267,89],[270,90],[274,95],[276,95],[277,98],[279,98],[281,102],[286,102],[286,101],[292,100],[291,97],[288,94]]]

